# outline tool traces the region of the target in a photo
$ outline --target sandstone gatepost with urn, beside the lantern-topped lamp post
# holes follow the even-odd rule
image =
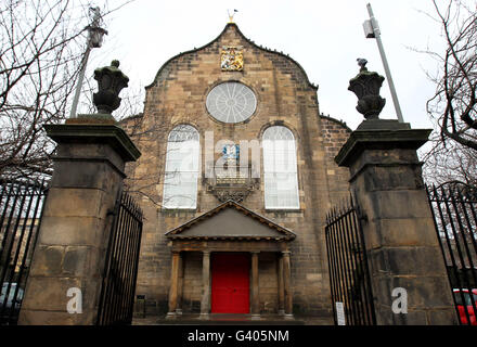
[[[95,72],[98,78],[116,75],[108,86],[116,88],[116,98],[120,91],[116,79],[124,76],[117,66],[114,62]],[[101,101],[101,94],[106,93],[117,108],[114,92],[100,85],[94,95],[96,106],[96,99]],[[140,156],[126,132],[115,125],[111,116],[114,106],[105,104],[101,103],[99,114],[44,126],[57,143],[54,174],[18,324],[96,322],[112,213],[126,177],[125,163]]]

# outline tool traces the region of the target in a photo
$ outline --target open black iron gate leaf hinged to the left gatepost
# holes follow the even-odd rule
[[[142,211],[128,193],[116,202],[98,310],[99,325],[130,324],[134,305]]]

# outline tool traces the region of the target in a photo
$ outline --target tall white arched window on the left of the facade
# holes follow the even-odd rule
[[[167,142],[164,208],[196,208],[198,171],[198,131],[190,125],[177,126]]]

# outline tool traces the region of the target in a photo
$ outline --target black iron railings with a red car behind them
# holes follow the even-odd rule
[[[477,325],[477,188],[449,182],[427,195],[460,323]]]

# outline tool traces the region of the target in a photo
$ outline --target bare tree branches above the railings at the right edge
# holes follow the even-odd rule
[[[442,52],[424,53],[436,61],[436,85],[426,110],[435,131],[431,147],[423,156],[427,182],[477,183],[477,1],[433,0],[434,14],[426,13],[441,28]],[[423,52],[423,51],[421,51]]]

